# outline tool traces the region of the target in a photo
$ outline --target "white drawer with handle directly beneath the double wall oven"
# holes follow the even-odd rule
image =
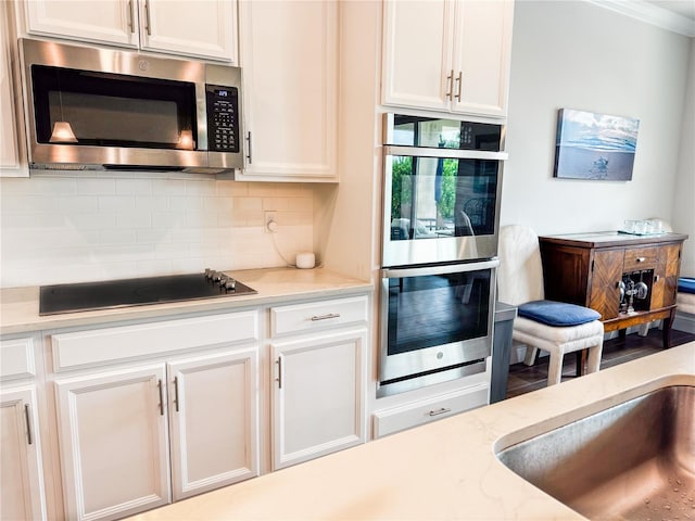
[[[377,411],[374,415],[374,437],[386,436],[488,405],[489,391],[489,385],[482,383],[454,393]]]

